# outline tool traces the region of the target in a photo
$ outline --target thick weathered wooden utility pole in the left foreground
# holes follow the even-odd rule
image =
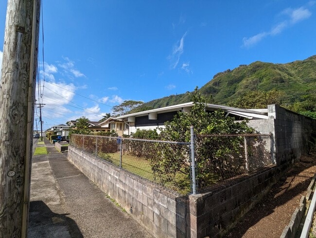
[[[8,0],[0,78],[0,237],[26,237],[40,0]]]

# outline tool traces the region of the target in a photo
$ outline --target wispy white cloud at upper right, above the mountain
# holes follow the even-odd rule
[[[313,2],[310,2],[309,5],[311,6],[312,3]],[[277,23],[268,32],[262,32],[250,37],[244,37],[243,47],[246,47],[246,48],[252,47],[256,45],[258,42],[260,42],[261,40],[263,40],[264,37],[281,34],[286,28],[289,28],[293,26],[294,24],[298,23],[299,21],[302,21],[304,19],[311,17],[312,13],[310,12],[309,9],[302,6],[296,9],[287,8],[283,10],[280,15],[285,16],[286,19]]]

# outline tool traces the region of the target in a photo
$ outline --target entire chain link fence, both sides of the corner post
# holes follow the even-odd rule
[[[191,142],[71,135],[70,146],[180,194],[273,164],[270,135],[192,135]]]

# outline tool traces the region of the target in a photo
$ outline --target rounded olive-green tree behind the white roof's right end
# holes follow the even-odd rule
[[[278,104],[282,102],[284,92],[276,89],[272,89],[267,92],[263,91],[247,91],[237,98],[229,106],[239,108],[266,108],[269,104]]]

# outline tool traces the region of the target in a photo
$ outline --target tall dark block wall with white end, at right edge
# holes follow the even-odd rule
[[[316,120],[268,105],[268,117],[275,121],[276,161],[278,165],[299,159],[308,152],[312,133],[316,133]]]

